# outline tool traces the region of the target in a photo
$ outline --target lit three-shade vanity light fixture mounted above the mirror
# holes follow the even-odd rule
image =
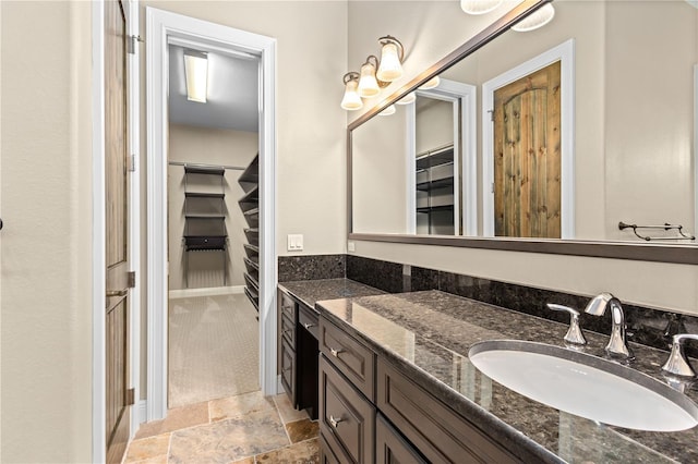
[[[387,87],[390,82],[402,76],[405,58],[402,44],[393,36],[381,37],[378,41],[382,46],[380,60],[376,56],[370,54],[361,65],[360,73],[352,71],[345,74],[345,96],[341,99],[341,108],[360,109],[363,107],[361,98],[375,97],[381,93],[381,88]],[[358,101],[357,98],[359,98]]]

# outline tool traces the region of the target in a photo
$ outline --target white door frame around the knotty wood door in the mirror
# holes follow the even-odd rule
[[[482,84],[482,234],[494,236],[494,91],[561,62],[561,239],[575,237],[575,39],[569,39]]]

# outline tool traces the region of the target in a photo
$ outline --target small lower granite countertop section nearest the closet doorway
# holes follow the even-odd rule
[[[353,298],[383,295],[385,292],[350,279],[318,279],[280,282],[279,288],[315,309],[320,300]]]

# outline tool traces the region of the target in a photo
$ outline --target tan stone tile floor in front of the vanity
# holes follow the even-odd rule
[[[256,391],[177,407],[143,424],[123,463],[320,463],[317,437],[317,422],[285,394]]]

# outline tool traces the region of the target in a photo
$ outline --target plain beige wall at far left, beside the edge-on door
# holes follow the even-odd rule
[[[0,11],[0,461],[89,462],[91,4]]]

